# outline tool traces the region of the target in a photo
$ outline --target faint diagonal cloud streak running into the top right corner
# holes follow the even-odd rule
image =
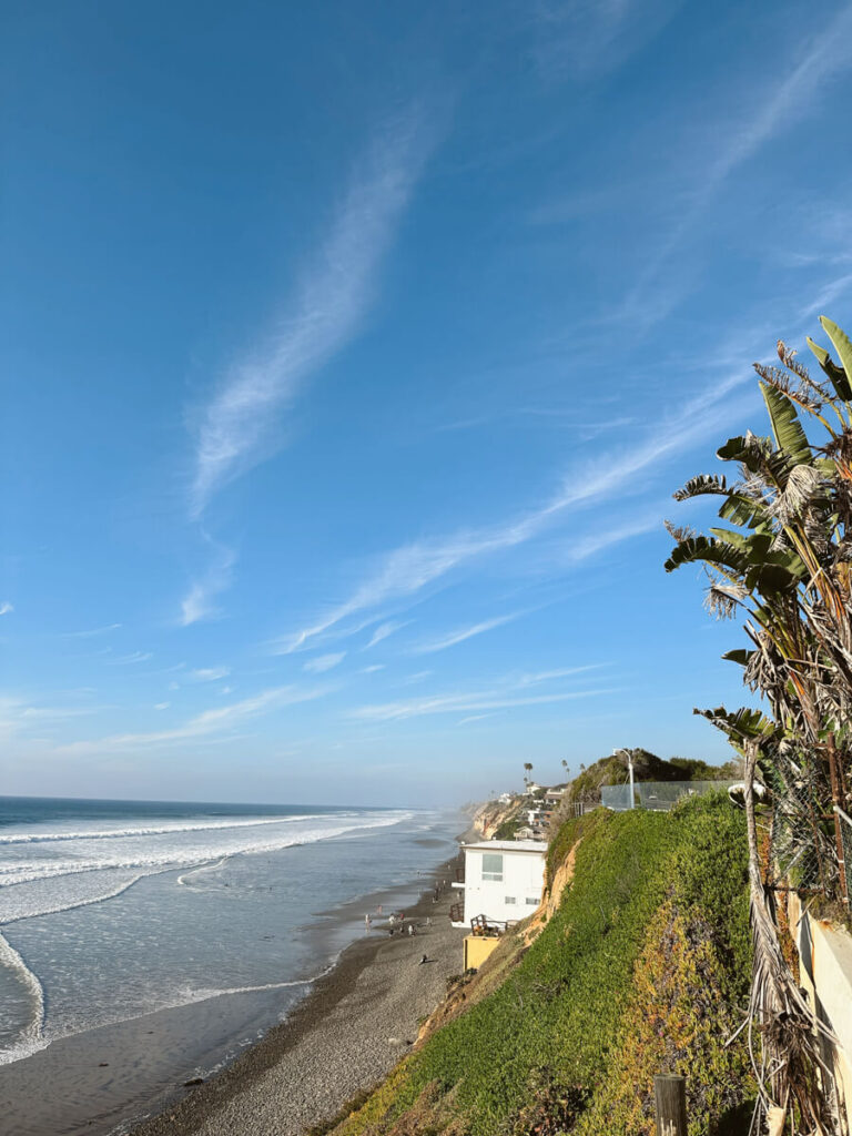
[[[638,282],[630,291],[624,314],[648,311],[649,289],[661,268],[679,248],[686,234],[702,219],[704,211],[728,177],[758,150],[778,134],[805,118],[818,102],[825,87],[852,64],[852,6],[845,5],[821,35],[812,39],[799,62],[791,68],[776,68],[783,78],[766,92],[762,101],[741,127],[726,128],[727,147],[702,167],[701,183],[692,201],[657,253],[646,262]],[[742,110],[742,108],[740,108]],[[646,324],[655,323],[675,306],[674,295],[660,298]]]

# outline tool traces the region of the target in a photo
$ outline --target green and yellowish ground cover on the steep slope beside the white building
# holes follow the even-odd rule
[[[437,1029],[337,1136],[653,1131],[653,1076],[688,1077],[690,1133],[747,1131],[745,826],[724,794],[561,826],[575,875],[502,984]],[[476,1001],[476,1000],[474,1000]]]

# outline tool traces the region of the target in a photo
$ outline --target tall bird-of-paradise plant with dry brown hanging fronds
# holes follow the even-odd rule
[[[836,833],[825,818],[833,804],[849,803],[851,787],[844,770],[852,747],[852,343],[832,320],[820,323],[838,361],[808,340],[821,379],[783,342],[779,367],[754,365],[771,436],[730,438],[717,456],[734,463],[735,479],[704,474],[675,494],[718,498],[725,525],[709,536],[671,527],[677,545],[666,563],[667,571],[701,565],[710,610],[745,618],[750,644],[726,658],[744,668],[746,686],[769,711],[696,712],[745,759],[761,1105],[776,1124],[786,1114],[802,1133],[833,1130],[829,1094],[819,1087],[832,1079],[780,950],[753,786],[759,775],[772,791],[768,871],[780,868],[794,885],[844,902]],[[754,1044],[760,1049],[757,1036]]]

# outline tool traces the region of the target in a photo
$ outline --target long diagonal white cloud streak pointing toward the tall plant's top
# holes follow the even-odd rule
[[[708,384],[701,394],[688,400],[676,417],[661,423],[660,428],[648,435],[644,442],[573,470],[549,501],[504,525],[470,529],[394,550],[349,600],[315,624],[290,636],[282,636],[277,641],[277,650],[283,654],[302,650],[310,640],[357,612],[414,595],[475,559],[525,544],[574,509],[621,494],[625,486],[632,484],[634,475],[684,452],[696,440],[713,433],[718,416],[710,411],[746,378],[747,371],[743,368],[725,379]]]

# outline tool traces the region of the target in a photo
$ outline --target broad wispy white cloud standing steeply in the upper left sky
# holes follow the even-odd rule
[[[276,449],[278,412],[292,403],[307,376],[360,331],[383,258],[426,160],[428,133],[416,109],[377,132],[295,299],[278,320],[277,334],[232,369],[204,408],[195,432],[194,516],[216,490]]]

